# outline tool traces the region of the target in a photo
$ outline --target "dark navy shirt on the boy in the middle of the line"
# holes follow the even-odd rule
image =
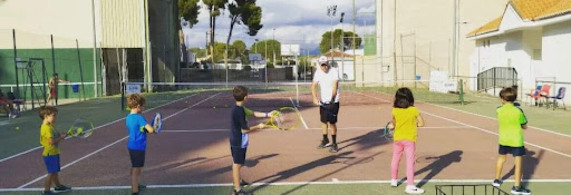
[[[248,148],[248,134],[242,133],[242,129],[248,129],[246,117],[254,116],[250,109],[235,105],[230,117],[230,147]]]

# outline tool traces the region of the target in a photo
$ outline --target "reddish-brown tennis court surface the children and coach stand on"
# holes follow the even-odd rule
[[[304,123],[295,131],[267,129],[250,136],[243,177],[251,182],[389,180],[391,142],[379,129],[391,117],[392,98],[376,92],[355,93],[377,105],[341,105],[337,142],[340,151],[316,149],[321,139],[319,108],[301,107]],[[295,94],[252,94],[250,101],[281,101],[292,106]],[[343,96],[341,97],[343,98]],[[203,92],[144,115],[163,114],[163,132],[148,136],[141,180],[148,185],[227,184],[231,182],[228,127],[230,107],[212,108],[214,101],[234,104],[230,92]],[[343,101],[343,99],[341,100]],[[219,104],[219,102],[216,102]],[[226,103],[225,103],[226,104]],[[182,106],[183,105],[183,106]],[[246,104],[248,105],[248,103]],[[379,108],[380,105],[380,108]],[[426,121],[419,129],[416,179],[487,180],[493,177],[497,154],[497,121],[437,105],[416,103]],[[270,111],[268,107],[249,107]],[[250,119],[250,125],[262,120]],[[124,120],[98,129],[89,140],[61,144],[61,180],[70,186],[130,184]],[[525,131],[524,179],[571,178],[571,137],[530,128]],[[439,157],[426,160],[425,157]],[[506,163],[507,172],[513,165]],[[403,160],[404,161],[404,160]],[[404,170],[404,162],[401,162]],[[41,150],[0,162],[0,189],[39,188],[45,168]],[[513,172],[512,172],[513,174]],[[404,177],[404,172],[400,173]],[[510,176],[510,174],[508,174]],[[513,178],[513,176],[511,176]]]

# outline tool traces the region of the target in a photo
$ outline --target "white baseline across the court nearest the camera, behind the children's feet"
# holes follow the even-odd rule
[[[415,180],[418,182],[429,182],[429,183],[491,183],[489,179],[478,179],[478,180]],[[504,180],[504,182],[514,182],[514,180]],[[559,183],[559,182],[571,182],[571,180],[557,180],[557,179],[533,179],[533,180],[522,180],[522,182],[534,182],[534,183]],[[292,181],[292,182],[258,182],[251,184],[251,186],[281,186],[281,185],[339,185],[339,184],[390,184],[391,180],[363,180],[363,181]],[[232,186],[232,183],[222,183],[222,184],[172,184],[172,185],[147,185],[147,188],[208,188],[208,187],[224,187]],[[114,190],[114,189],[131,189],[131,186],[119,185],[119,186],[91,186],[91,187],[73,187],[74,190]],[[43,191],[43,188],[2,188],[0,192],[17,192],[17,191]]]

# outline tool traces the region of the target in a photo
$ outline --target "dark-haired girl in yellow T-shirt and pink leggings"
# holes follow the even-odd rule
[[[407,155],[407,188],[405,193],[421,194],[423,189],[414,184],[415,176],[415,153],[417,127],[424,126],[424,119],[420,111],[414,107],[415,98],[412,91],[406,87],[399,88],[395,94],[395,102],[392,109],[392,125],[395,127],[393,135],[393,159],[391,163],[391,186],[396,187],[399,176],[399,163],[403,152]]]

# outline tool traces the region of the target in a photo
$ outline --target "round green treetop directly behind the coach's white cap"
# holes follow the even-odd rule
[[[359,35],[351,31],[341,31],[341,29],[336,29],[333,31],[333,48],[341,50],[341,33],[343,33],[343,46],[345,50],[357,49],[361,46],[362,39]],[[353,36],[356,36],[355,46],[353,46]],[[331,50],[331,31],[327,31],[321,35],[321,43],[319,43],[319,51],[321,54],[325,54]]]

